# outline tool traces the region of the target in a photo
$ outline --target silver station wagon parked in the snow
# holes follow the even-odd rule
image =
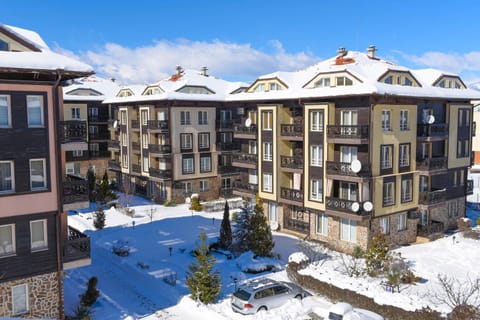
[[[293,283],[268,278],[240,285],[232,296],[232,309],[242,314],[279,307],[289,299],[303,299],[305,291]]]

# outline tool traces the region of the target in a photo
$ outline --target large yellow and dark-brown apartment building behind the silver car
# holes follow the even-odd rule
[[[274,228],[351,252],[377,232],[407,244],[465,216],[478,91],[375,51],[341,48],[228,97],[248,106],[234,127],[233,193],[258,192]]]

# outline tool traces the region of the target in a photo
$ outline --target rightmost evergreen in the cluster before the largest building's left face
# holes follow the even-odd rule
[[[248,247],[256,256],[270,256],[275,243],[272,239],[272,230],[263,214],[262,199],[258,194],[253,212],[253,216],[250,217],[247,236]]]

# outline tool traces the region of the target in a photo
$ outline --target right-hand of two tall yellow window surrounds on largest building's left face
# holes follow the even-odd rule
[[[325,160],[327,159],[327,152],[332,153],[331,151],[327,151],[327,125],[330,123],[334,123],[335,121],[335,106],[333,103],[320,103],[320,104],[305,104],[305,113],[304,113],[304,139],[303,139],[303,163],[304,163],[304,180],[303,180],[303,196],[304,196],[304,203],[306,208],[316,209],[325,211],[325,194],[327,190],[327,179],[325,177]],[[323,202],[317,201],[310,201],[310,173],[309,173],[309,159],[310,159],[310,148],[309,145],[309,137],[308,132],[310,130],[310,111],[312,110],[323,110]],[[331,111],[331,112],[330,112]],[[332,149],[333,150],[333,149]]]

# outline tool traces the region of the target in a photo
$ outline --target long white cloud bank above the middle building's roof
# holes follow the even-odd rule
[[[311,52],[288,53],[276,40],[270,46],[271,52],[265,52],[250,44],[219,40],[162,40],[137,48],[107,43],[98,50],[82,52],[77,58],[90,64],[97,74],[125,84],[160,80],[174,73],[177,65],[198,70],[207,66],[209,73],[217,77],[250,81],[265,73],[298,70],[318,61]],[[73,55],[65,50],[63,53]]]

